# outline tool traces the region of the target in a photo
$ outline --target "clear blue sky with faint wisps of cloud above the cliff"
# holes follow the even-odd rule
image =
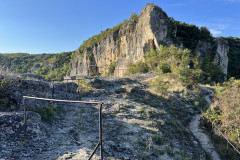
[[[175,20],[240,37],[240,0],[0,0],[0,53],[59,53],[155,3]]]

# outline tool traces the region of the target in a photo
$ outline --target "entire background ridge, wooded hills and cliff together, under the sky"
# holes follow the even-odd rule
[[[216,63],[212,68],[201,67],[214,80],[216,65],[229,78],[239,77],[240,42],[237,38],[214,38],[206,27],[176,21],[154,4],[147,4],[140,15],[133,13],[128,20],[89,38],[74,52],[0,54],[0,62],[4,70],[35,73],[46,79],[109,75],[113,65],[111,74],[123,76],[128,64],[144,61],[146,53],[159,49],[160,45],[187,48],[199,57],[200,63]]]

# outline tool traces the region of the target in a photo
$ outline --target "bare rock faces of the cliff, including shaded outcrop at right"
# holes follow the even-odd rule
[[[91,49],[86,48],[83,53],[77,50],[78,55],[71,61],[69,75],[104,75],[111,63],[116,62],[114,75],[122,76],[127,64],[143,61],[151,48],[174,44],[172,37],[176,37],[176,32],[172,19],[160,7],[147,4],[137,18],[130,18],[118,30],[92,45]],[[174,45],[186,48],[183,44]],[[223,39],[215,38],[214,43],[198,41],[195,47],[195,52],[202,58],[213,50],[216,52],[214,60],[227,74],[229,49]]]

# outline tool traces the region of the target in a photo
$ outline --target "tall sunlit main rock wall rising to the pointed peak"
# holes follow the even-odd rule
[[[138,21],[130,19],[120,30],[95,45],[93,50],[86,50],[83,55],[74,58],[70,76],[106,74],[113,61],[116,62],[114,75],[122,76],[126,65],[144,60],[150,48],[173,44],[168,35],[171,28],[166,13],[160,7],[149,4],[142,9]]]

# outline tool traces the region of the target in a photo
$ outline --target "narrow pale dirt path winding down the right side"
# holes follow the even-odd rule
[[[201,92],[204,95],[204,98],[208,102],[209,106],[212,104],[210,95],[212,94],[212,91],[206,87],[200,86]],[[215,151],[213,144],[211,143],[210,138],[203,132],[203,130],[199,127],[200,125],[200,118],[201,114],[195,115],[190,124],[189,129],[194,134],[194,136],[199,140],[202,148],[205,152],[211,155],[213,160],[221,160],[218,153]]]

